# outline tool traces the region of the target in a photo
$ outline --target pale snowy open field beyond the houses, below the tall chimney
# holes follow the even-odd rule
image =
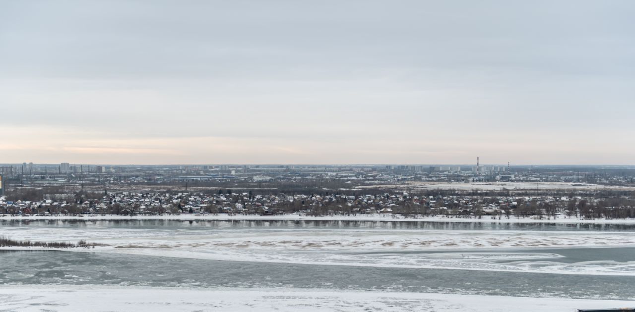
[[[566,182],[406,182],[389,185],[364,185],[355,188],[392,190],[635,190],[632,186]]]

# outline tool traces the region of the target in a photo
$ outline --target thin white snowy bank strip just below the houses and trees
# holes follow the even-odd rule
[[[462,222],[462,223],[558,223],[558,224],[635,224],[635,219],[581,219],[557,216],[556,218],[519,218],[511,216],[509,219],[502,217],[491,218],[485,216],[477,218],[453,218],[445,216],[433,216],[417,218],[404,218],[403,216],[392,214],[358,214],[350,216],[321,216],[313,217],[305,214],[284,214],[276,216],[260,216],[253,214],[172,214],[163,216],[119,216],[114,214],[106,215],[86,215],[86,216],[11,216],[0,214],[0,221],[3,220],[178,220],[178,221],[228,221],[228,220],[290,220],[290,221],[427,221],[427,222]]]

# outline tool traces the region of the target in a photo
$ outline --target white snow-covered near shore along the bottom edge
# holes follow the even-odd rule
[[[1,311],[471,311],[573,312],[635,301],[306,289],[0,287]]]

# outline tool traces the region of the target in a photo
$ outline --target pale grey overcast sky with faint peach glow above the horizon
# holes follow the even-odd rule
[[[635,164],[635,1],[0,1],[0,163]]]

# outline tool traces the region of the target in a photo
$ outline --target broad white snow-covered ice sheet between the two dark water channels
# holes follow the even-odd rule
[[[635,275],[635,259],[563,263],[558,261],[559,254],[541,250],[634,247],[632,232],[11,226],[0,228],[2,235],[15,240],[105,244],[94,249],[62,249],[76,252],[384,268]],[[429,252],[432,250],[443,252]]]

